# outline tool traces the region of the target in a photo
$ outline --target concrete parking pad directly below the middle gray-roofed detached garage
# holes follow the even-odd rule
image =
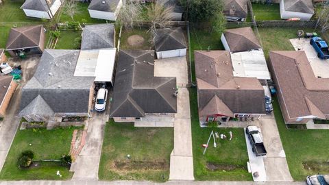
[[[188,84],[186,57],[173,57],[154,62],[154,76],[176,77],[177,86],[186,87]]]

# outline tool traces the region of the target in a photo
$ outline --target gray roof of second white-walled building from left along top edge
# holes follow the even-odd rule
[[[88,10],[97,10],[101,12],[114,12],[117,9],[120,0],[93,0],[88,6]],[[103,3],[104,2],[104,3]]]

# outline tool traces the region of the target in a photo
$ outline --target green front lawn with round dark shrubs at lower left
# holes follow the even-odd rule
[[[59,160],[64,154],[69,153],[73,130],[76,128],[60,128],[54,130],[18,130],[5,164],[0,173],[1,180],[68,180],[73,173],[66,167],[61,167],[56,162],[40,162],[38,167],[19,169],[17,158],[22,151],[34,151],[34,159]],[[32,146],[29,146],[32,144]],[[62,177],[56,175],[60,171]]]

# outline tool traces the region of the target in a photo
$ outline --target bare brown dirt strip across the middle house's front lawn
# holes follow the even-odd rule
[[[169,164],[165,161],[117,160],[114,161],[114,168],[120,171],[166,170],[169,168]]]

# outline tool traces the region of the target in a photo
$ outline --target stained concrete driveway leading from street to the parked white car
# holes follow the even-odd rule
[[[70,171],[74,171],[72,180],[98,180],[99,161],[101,160],[101,147],[105,124],[108,116],[93,114],[87,123],[86,145],[80,152]]]

